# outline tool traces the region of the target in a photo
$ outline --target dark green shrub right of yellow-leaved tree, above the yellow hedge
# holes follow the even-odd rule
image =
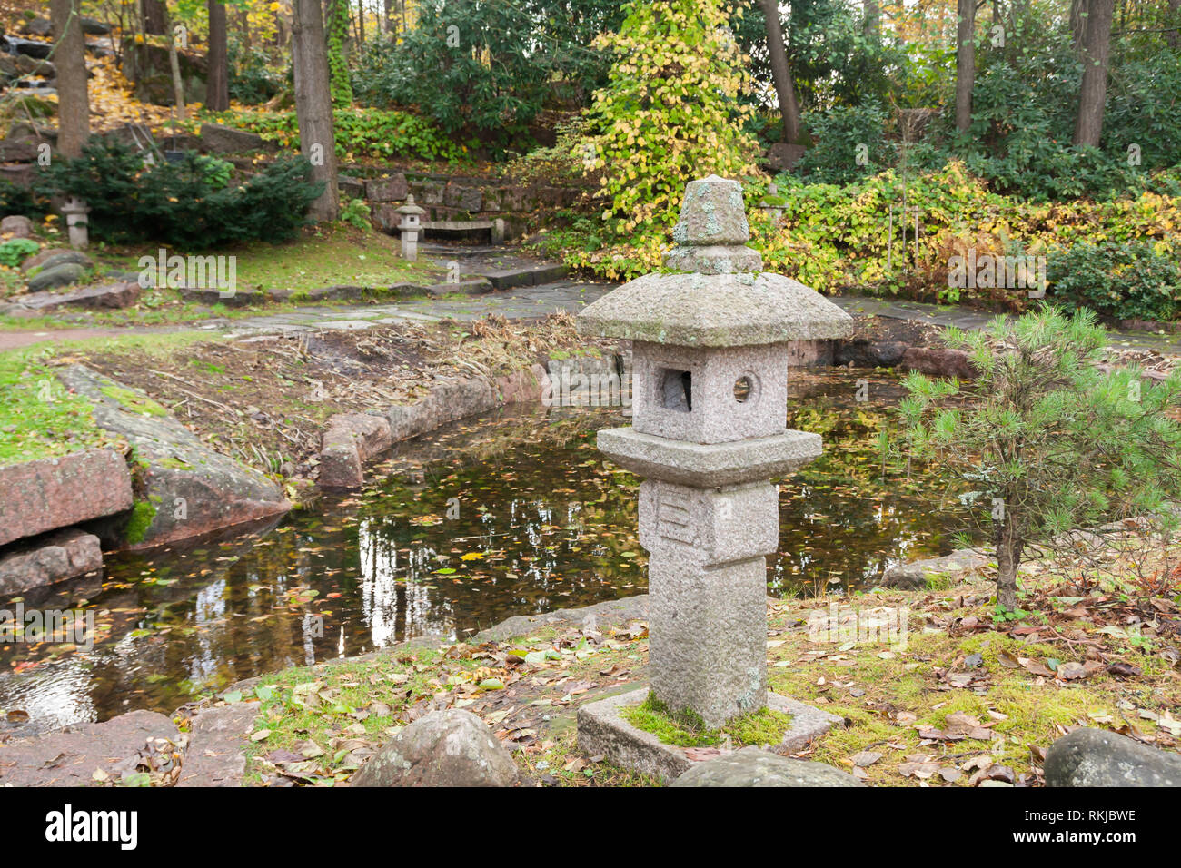
[[[876,175],[896,162],[895,145],[886,141],[886,111],[879,105],[804,112],[802,120],[817,139],[797,165],[800,174],[811,182],[844,184]],[[864,165],[857,164],[859,152],[864,154]]]

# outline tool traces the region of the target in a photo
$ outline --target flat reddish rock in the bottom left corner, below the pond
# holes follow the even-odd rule
[[[103,723],[66,726],[28,738],[12,738],[0,751],[0,784],[6,787],[94,787],[94,772],[118,779],[135,769],[148,739],[176,742],[176,725],[155,711],[131,711]]]

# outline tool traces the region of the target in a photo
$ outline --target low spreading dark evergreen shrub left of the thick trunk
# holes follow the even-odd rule
[[[279,159],[239,184],[223,161],[185,155],[180,163],[144,167],[126,145],[92,138],[77,159],[47,168],[35,192],[90,203],[90,230],[107,241],[154,239],[181,249],[241,241],[282,241],[305,224],[324,189],[302,157]]]

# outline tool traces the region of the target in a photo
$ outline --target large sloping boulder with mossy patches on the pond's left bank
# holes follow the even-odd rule
[[[138,390],[84,365],[58,377],[94,405],[94,422],[126,438],[142,497],[120,521],[96,526],[109,546],[144,549],[281,515],[282,489],[254,468],[215,451]]]

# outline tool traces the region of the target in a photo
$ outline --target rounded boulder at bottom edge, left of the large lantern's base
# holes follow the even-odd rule
[[[352,787],[511,787],[517,770],[491,730],[470,711],[418,718],[370,757]]]

